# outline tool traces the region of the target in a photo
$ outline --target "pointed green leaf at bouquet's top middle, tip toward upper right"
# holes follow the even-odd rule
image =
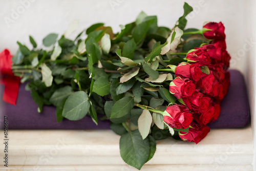
[[[137,45],[139,45],[141,41],[145,38],[148,29],[154,22],[155,18],[146,20],[145,22],[142,22],[141,24],[135,26],[132,31],[132,35]]]

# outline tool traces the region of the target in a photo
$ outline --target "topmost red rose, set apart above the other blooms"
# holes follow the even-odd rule
[[[224,40],[226,35],[224,33],[225,27],[223,24],[210,22],[203,26],[205,29],[209,29],[204,32],[204,37],[207,39]]]

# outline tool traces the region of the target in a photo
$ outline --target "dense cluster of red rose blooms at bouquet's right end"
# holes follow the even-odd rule
[[[186,58],[175,69],[175,79],[169,91],[179,99],[181,105],[168,106],[164,122],[176,129],[184,141],[200,142],[208,132],[207,123],[215,121],[220,115],[220,103],[229,87],[230,55],[226,51],[224,26],[222,23],[207,23],[205,38],[209,45],[189,51]]]

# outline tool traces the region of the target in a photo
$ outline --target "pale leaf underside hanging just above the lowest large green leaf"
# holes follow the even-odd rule
[[[147,109],[144,109],[138,119],[139,132],[142,136],[142,139],[145,139],[147,135],[150,133],[151,123],[152,123],[151,113]]]

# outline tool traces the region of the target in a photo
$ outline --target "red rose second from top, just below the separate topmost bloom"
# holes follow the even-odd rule
[[[210,65],[210,58],[215,55],[215,46],[213,45],[204,45],[200,48],[195,48],[195,51],[189,52],[186,56],[189,60],[196,61],[204,66]]]

